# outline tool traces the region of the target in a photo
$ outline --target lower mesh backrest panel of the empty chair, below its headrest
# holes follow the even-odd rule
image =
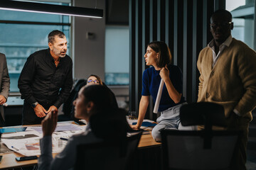
[[[162,130],[164,169],[229,169],[238,131],[212,131],[211,146],[204,148],[206,131]]]

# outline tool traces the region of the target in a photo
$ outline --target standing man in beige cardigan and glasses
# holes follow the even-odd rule
[[[231,169],[246,169],[248,127],[256,106],[256,53],[231,36],[232,15],[218,10],[210,18],[213,40],[198,56],[200,72],[198,102],[209,101],[224,107],[228,130],[242,130],[239,148]]]

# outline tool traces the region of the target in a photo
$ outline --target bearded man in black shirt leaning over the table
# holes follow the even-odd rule
[[[50,111],[58,111],[73,85],[72,60],[66,55],[67,40],[60,30],[48,35],[46,50],[28,57],[18,79],[24,99],[22,125],[41,123]]]

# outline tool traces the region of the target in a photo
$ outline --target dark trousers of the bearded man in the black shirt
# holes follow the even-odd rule
[[[46,111],[50,108],[50,104],[48,102],[38,102],[46,109]],[[38,118],[33,107],[26,101],[23,104],[23,111],[22,111],[22,125],[34,125],[34,124],[41,124],[41,121],[44,118]]]

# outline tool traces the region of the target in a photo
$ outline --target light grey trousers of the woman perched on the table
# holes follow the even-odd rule
[[[179,117],[180,108],[186,103],[166,109],[161,112],[156,122],[158,123],[152,130],[151,135],[156,142],[161,142],[161,130],[196,130],[195,126],[183,126]]]

